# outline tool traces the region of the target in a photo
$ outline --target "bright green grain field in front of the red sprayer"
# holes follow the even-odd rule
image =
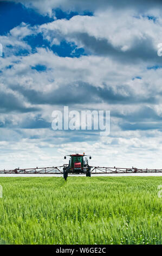
[[[0,178],[0,243],[161,244],[162,177]]]

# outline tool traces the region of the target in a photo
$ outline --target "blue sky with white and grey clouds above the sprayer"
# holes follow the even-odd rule
[[[161,1],[0,1],[0,168],[162,168]],[[51,113],[111,111],[111,132],[54,131]]]

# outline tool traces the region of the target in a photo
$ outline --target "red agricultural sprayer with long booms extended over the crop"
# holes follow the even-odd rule
[[[23,169],[16,168],[11,170],[3,169],[0,170],[0,174],[63,174],[63,178],[66,180],[68,174],[86,174],[87,177],[90,177],[91,174],[162,173],[162,169],[90,166],[88,163],[88,157],[91,159],[91,156],[85,155],[85,153],[68,156],[70,157],[69,163],[64,163],[62,166]],[[66,158],[67,156],[64,156],[64,159]]]

